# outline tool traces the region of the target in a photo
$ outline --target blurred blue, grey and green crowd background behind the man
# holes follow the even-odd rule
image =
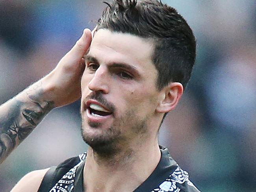
[[[203,192],[256,189],[256,2],[162,0],[197,37],[197,61],[160,143]],[[84,28],[93,29],[102,0],[0,1],[0,103],[50,72]],[[0,165],[0,191],[26,173],[87,149],[80,102],[54,109]]]

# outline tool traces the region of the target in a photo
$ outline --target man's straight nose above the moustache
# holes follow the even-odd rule
[[[93,79],[91,79],[88,84],[88,87],[92,91],[101,91],[102,93],[107,94],[109,92],[108,80],[107,68],[101,65],[96,70]]]

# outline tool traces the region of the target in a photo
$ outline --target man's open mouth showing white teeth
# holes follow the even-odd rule
[[[85,106],[87,113],[93,117],[105,117],[113,114],[110,109],[93,100],[87,101]]]

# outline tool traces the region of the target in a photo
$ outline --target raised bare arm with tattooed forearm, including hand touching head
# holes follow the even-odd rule
[[[86,29],[50,74],[0,106],[0,163],[50,110],[80,98],[85,67],[82,57],[90,43],[91,31]]]

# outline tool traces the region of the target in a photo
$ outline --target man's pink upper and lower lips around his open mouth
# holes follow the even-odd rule
[[[85,111],[88,117],[88,120],[90,122],[95,122],[95,123],[102,123],[106,120],[108,120],[109,118],[112,117],[112,114],[106,115],[106,116],[93,116],[90,111],[89,111],[89,106],[91,103],[94,103],[96,105],[100,105],[101,107],[103,107],[104,109],[106,109],[107,111],[110,111],[107,107],[105,107],[104,105],[102,105],[101,103],[97,102],[96,100],[87,100],[85,102]],[[111,111],[110,111],[111,112]]]

